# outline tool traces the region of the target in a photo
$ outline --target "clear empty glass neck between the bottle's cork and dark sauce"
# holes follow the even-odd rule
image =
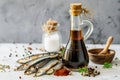
[[[82,24],[82,16],[71,15],[71,30],[81,30],[80,25]]]

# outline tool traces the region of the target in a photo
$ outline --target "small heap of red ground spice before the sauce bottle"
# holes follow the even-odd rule
[[[55,76],[68,76],[68,75],[70,75],[70,72],[71,72],[70,70],[61,68],[59,70],[56,70],[54,75]]]

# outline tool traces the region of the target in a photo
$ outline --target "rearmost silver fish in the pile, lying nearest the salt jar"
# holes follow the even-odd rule
[[[24,64],[24,63],[27,63],[27,62],[29,62],[31,60],[35,60],[35,59],[41,58],[43,56],[49,56],[50,54],[53,54],[53,53],[33,54],[33,55],[27,56],[25,58],[18,59],[17,62],[20,63],[20,64]]]

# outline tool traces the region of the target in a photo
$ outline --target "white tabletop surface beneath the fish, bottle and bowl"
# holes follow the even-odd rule
[[[87,44],[88,49],[91,48],[102,48],[104,45],[92,45]],[[24,49],[27,47],[32,47],[32,53],[40,53],[40,50],[36,50],[36,48],[42,48],[41,44],[0,44],[0,64],[9,64],[11,69],[10,72],[0,72],[0,80],[120,80],[120,45],[119,44],[113,44],[111,45],[111,49],[114,49],[116,51],[115,57],[118,57],[119,60],[113,60],[113,67],[111,69],[103,69],[102,65],[97,65],[92,62],[89,63],[89,66],[98,66],[98,70],[100,70],[101,74],[96,77],[83,77],[78,72],[73,72],[72,75],[66,76],[66,77],[57,77],[54,75],[44,75],[38,78],[34,78],[32,76],[24,75],[23,71],[14,71],[13,69],[18,64],[16,63],[16,60],[18,58],[23,57],[22,55],[24,53]],[[9,54],[12,53],[12,56],[9,57]],[[18,55],[18,57],[15,57],[15,55]],[[118,66],[115,66],[115,63],[118,64]],[[19,76],[21,76],[21,79],[19,79]]]

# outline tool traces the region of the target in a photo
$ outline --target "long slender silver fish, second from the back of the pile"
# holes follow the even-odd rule
[[[56,57],[58,57],[58,54],[55,54],[55,55],[52,55],[52,56],[51,55],[43,56],[41,58],[38,58],[38,59],[32,60],[30,62],[27,62],[25,64],[21,64],[20,66],[17,67],[17,71],[26,70],[26,69],[28,69],[29,66],[31,66],[31,65],[33,65],[33,64],[35,64],[35,63],[37,63],[37,62],[39,62],[41,60],[45,60],[45,59],[48,59],[48,58],[51,59],[51,58],[56,58]]]

